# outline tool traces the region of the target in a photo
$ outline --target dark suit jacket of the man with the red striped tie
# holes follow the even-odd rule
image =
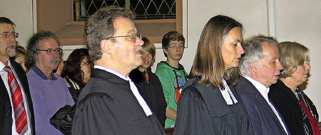
[[[34,117],[34,108],[31,100],[28,80],[25,70],[21,65],[13,60],[10,60],[12,67],[17,73],[18,78],[21,82],[21,85],[24,89],[24,93],[27,97],[28,108],[31,114],[31,132],[35,134],[35,117]],[[0,77],[0,134],[12,134],[12,106],[10,97],[6,88],[6,85],[2,78]]]

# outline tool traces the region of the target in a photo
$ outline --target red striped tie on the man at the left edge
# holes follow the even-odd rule
[[[8,82],[15,111],[16,131],[19,134],[25,134],[28,130],[27,115],[21,89],[11,68],[6,66],[4,70],[8,72]]]

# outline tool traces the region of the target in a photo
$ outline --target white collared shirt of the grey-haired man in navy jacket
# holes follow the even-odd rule
[[[279,122],[281,123],[284,131],[286,132],[286,134],[289,134],[287,132],[287,129],[285,127],[285,124],[283,123],[280,114],[276,111],[274,105],[270,102],[269,98],[268,98],[268,93],[270,91],[269,87],[265,87],[262,83],[252,79],[249,76],[243,76],[244,78],[246,78],[247,80],[249,80],[254,87],[261,93],[261,95],[264,97],[265,101],[268,103],[268,105],[271,107],[271,109],[273,110],[274,114],[276,115],[277,119],[279,120]]]

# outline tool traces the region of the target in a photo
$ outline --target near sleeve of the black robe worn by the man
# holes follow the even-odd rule
[[[108,94],[95,94],[82,101],[76,108],[72,134],[130,134],[126,120],[118,115],[117,103]]]

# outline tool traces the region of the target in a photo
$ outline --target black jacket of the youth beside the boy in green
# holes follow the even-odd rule
[[[129,78],[140,87],[139,92],[146,100],[153,113],[163,127],[165,127],[166,107],[167,103],[164,96],[161,81],[159,81],[156,74],[151,72],[151,68],[147,68],[149,76],[148,82],[145,78],[146,72],[140,72],[137,68],[129,73]]]

